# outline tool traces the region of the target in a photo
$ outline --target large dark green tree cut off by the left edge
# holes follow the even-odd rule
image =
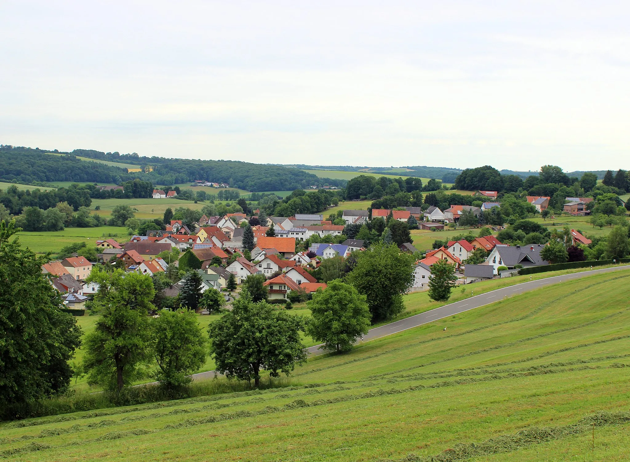
[[[76,318],[42,274],[45,257],[21,247],[14,221],[0,222],[0,408],[67,390],[81,345]]]

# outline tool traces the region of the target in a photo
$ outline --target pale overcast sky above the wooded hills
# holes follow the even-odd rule
[[[630,3],[0,2],[0,144],[627,169]]]

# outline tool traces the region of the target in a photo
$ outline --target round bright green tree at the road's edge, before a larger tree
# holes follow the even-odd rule
[[[323,342],[325,349],[348,351],[370,328],[370,308],[365,295],[340,279],[330,281],[326,290],[314,293],[307,307],[312,320],[306,326],[306,333]]]

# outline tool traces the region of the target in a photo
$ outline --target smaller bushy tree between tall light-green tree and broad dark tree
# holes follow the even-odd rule
[[[150,327],[149,351],[157,364],[152,377],[168,392],[178,392],[205,363],[208,339],[188,310],[162,310]]]

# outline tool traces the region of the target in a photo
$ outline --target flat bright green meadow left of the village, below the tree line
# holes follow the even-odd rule
[[[37,254],[57,253],[62,247],[74,242],[85,242],[88,247],[96,245],[96,239],[115,239],[127,242],[127,228],[101,226],[97,228],[66,228],[63,231],[21,231],[16,234],[22,245]]]

